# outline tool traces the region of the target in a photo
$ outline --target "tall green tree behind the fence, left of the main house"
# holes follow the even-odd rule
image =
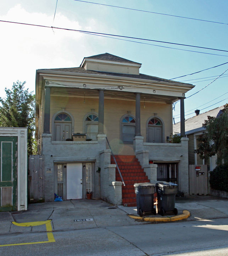
[[[6,89],[6,97],[0,97],[0,126],[28,128],[28,155],[33,152],[34,144],[34,103],[35,95],[24,89],[24,82],[13,83],[12,89]]]

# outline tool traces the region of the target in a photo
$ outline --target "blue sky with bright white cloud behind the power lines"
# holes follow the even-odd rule
[[[226,24],[75,0],[58,0],[56,14],[56,0],[1,1],[0,20],[228,51],[227,0],[91,0],[91,2]],[[128,39],[140,42],[136,43],[86,33],[6,22],[0,22],[0,31],[1,97],[4,97],[4,88],[10,89],[13,82],[17,80],[26,81],[26,88],[34,91],[36,69],[75,67],[80,65],[84,57],[106,52],[142,63],[140,73],[165,79],[173,79],[228,62],[228,52],[218,50]],[[227,69],[228,64],[224,64],[174,80],[195,85],[195,88],[186,94],[186,97],[189,97],[210,84]],[[205,89],[185,99],[185,118],[194,116],[196,108],[202,113],[227,102],[228,71]],[[180,120],[179,108],[179,103],[177,103],[173,111],[176,122]]]

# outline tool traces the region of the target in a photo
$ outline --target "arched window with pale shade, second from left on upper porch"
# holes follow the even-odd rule
[[[93,113],[85,118],[85,133],[87,139],[96,140],[96,135],[98,134],[98,115]]]

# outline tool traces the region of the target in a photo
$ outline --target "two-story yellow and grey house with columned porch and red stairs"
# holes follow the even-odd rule
[[[93,191],[93,198],[133,205],[133,184],[157,179],[188,193],[188,139],[172,144],[167,137],[179,99],[184,134],[185,93],[194,86],[140,74],[140,67],[105,53],[78,68],[37,70],[35,137],[46,202],[54,193],[65,200]]]

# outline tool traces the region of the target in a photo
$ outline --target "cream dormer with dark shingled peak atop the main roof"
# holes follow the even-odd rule
[[[85,57],[80,67],[85,70],[139,75],[141,63],[104,53]]]

